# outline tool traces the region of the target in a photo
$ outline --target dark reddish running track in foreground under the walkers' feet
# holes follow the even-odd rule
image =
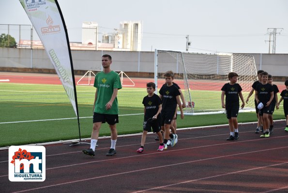
[[[10,182],[8,150],[0,151],[1,193],[287,193],[288,133],[284,121],[270,138],[240,125],[240,138],[226,141],[227,126],[179,130],[174,147],[157,152],[155,134],[145,151],[136,153],[141,136],[120,137],[117,154],[106,157],[109,139],[98,142],[96,156],[82,153],[89,145],[45,145],[46,180]]]

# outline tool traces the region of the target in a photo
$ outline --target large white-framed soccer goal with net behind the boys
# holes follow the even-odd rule
[[[168,70],[172,70],[175,74],[174,82],[182,89],[187,106],[183,111],[190,115],[225,113],[221,105],[221,88],[229,81],[227,78],[229,72],[236,72],[239,75],[237,83],[243,89],[244,100],[253,82],[258,80],[254,57],[250,55],[155,49],[156,93],[165,83],[163,75]],[[240,112],[255,111],[252,98],[253,96]]]

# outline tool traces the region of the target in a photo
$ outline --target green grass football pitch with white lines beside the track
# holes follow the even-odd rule
[[[81,85],[76,86],[76,90],[81,139],[89,138],[95,88]],[[79,139],[76,114],[62,85],[0,82],[0,93],[0,147]],[[221,107],[220,93],[211,95],[209,105]],[[146,95],[145,88],[124,87],[119,90],[119,135],[142,132],[142,99]],[[275,110],[273,118],[285,119],[283,106]],[[255,112],[238,116],[239,123],[255,121]],[[227,124],[225,114],[186,115],[183,120],[177,120],[178,128],[222,124]],[[102,124],[99,136],[110,136],[107,124]]]

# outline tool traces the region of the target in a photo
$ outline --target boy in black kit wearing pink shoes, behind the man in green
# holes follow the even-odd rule
[[[154,82],[147,83],[148,95],[143,98],[142,104],[144,105],[144,122],[143,133],[141,138],[141,147],[137,150],[138,153],[143,153],[144,144],[146,141],[147,132],[151,132],[151,127],[154,133],[157,133],[160,145],[157,151],[163,151],[164,144],[161,130],[161,115],[162,110],[161,99],[158,95],[154,94],[156,85]]]

